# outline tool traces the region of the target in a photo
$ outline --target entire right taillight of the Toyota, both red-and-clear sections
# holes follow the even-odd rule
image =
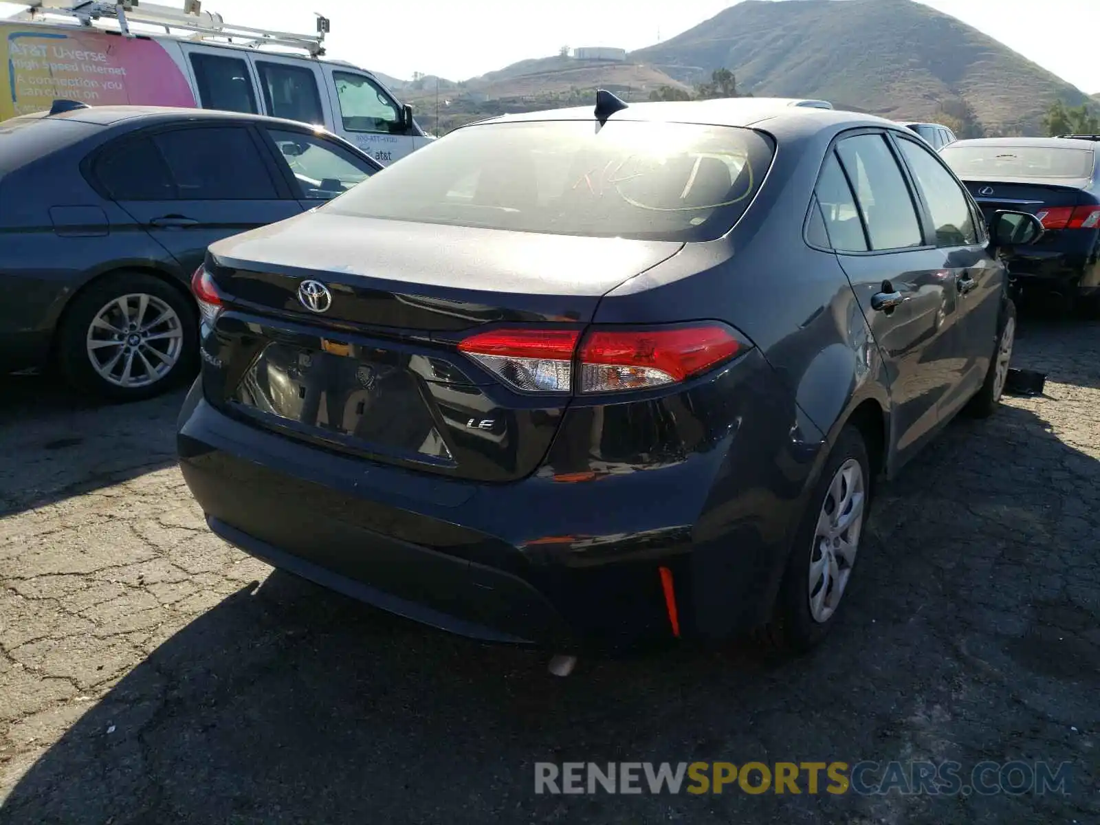
[[[727,327],[600,329],[580,352],[576,330],[503,329],[465,339],[466,353],[516,389],[569,393],[579,362],[578,392],[614,393],[675,384],[728,361],[744,344]],[[575,359],[574,359],[575,355]]]

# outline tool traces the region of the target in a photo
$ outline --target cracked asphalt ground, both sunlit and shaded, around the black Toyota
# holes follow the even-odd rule
[[[388,617],[207,532],[180,394],[0,392],[2,823],[1100,822],[1100,323],[1025,324],[1041,398],[880,494],[813,656],[582,660]],[[536,761],[1071,763],[1070,793],[547,796]]]

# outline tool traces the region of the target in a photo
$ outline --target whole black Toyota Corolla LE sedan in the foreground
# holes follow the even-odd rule
[[[803,651],[876,480],[998,404],[998,255],[1041,231],[851,112],[465,127],[211,246],[184,476],[233,544],[448,630]]]

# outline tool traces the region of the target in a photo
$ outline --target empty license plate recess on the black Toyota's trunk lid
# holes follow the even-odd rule
[[[267,343],[230,395],[242,411],[356,451],[453,463],[410,356],[321,340]]]

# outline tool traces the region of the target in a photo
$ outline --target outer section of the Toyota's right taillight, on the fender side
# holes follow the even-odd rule
[[[741,349],[725,327],[661,330],[597,329],[581,346],[582,393],[658,387],[697,375]]]

